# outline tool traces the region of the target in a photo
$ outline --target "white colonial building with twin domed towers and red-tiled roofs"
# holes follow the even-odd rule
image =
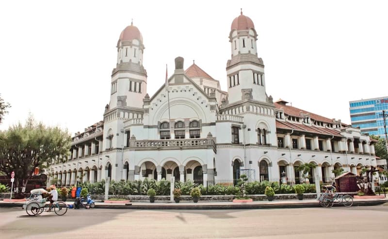
[[[267,95],[257,40],[252,20],[241,13],[229,32],[227,91],[194,63],[184,70],[178,57],[168,91],[162,85],[149,96],[142,34],[133,24],[125,28],[103,121],[75,134],[70,156],[49,166],[51,178],[175,176],[206,184],[235,179],[243,170],[252,179],[278,180],[283,172],[298,178],[295,167],[312,162],[310,174],[327,181],[333,168],[357,173],[376,166],[374,142],[359,128]]]

